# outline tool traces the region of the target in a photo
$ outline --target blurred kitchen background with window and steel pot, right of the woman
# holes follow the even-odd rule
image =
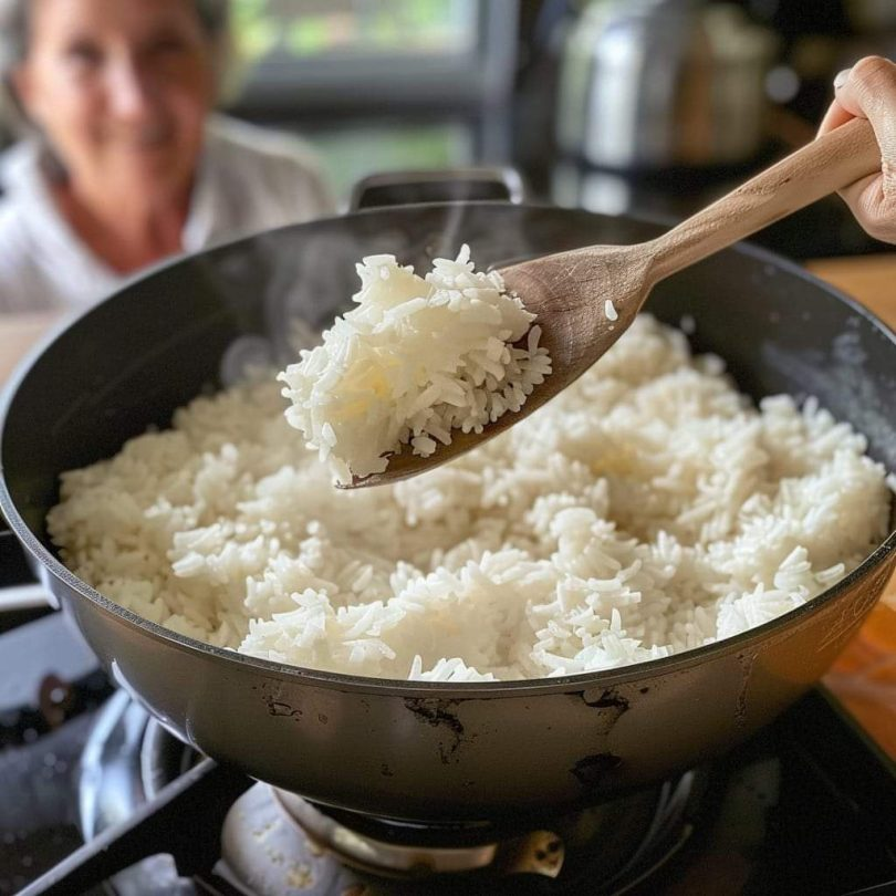
[[[374,171],[513,166],[534,201],[681,217],[811,139],[894,0],[233,0],[230,112]],[[882,249],[836,198],[758,241]]]

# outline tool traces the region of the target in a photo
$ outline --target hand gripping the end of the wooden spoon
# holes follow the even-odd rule
[[[819,136],[852,118],[867,118],[881,146],[881,170],[840,191],[875,239],[896,243],[896,65],[865,56],[834,79],[834,102]]]

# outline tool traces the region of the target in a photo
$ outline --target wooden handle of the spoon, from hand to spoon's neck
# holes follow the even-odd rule
[[[765,225],[881,170],[881,148],[856,118],[758,174],[647,243],[652,283],[700,261]]]

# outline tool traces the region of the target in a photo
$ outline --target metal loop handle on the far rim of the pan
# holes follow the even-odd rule
[[[416,202],[497,200],[519,204],[525,187],[515,168],[438,168],[386,171],[355,184],[350,211]]]

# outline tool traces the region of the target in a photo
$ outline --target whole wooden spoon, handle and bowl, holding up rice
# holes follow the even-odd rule
[[[341,488],[396,482],[430,470],[503,433],[538,410],[597,361],[629,327],[650,290],[667,277],[761,230],[793,211],[881,169],[871,125],[856,118],[762,171],[702,211],[649,242],[590,246],[500,269],[507,288],[538,315],[541,344],[553,373],[518,413],[507,413],[480,434],[451,433],[429,457],[405,447],[382,473]],[[605,302],[618,315],[610,320]]]

